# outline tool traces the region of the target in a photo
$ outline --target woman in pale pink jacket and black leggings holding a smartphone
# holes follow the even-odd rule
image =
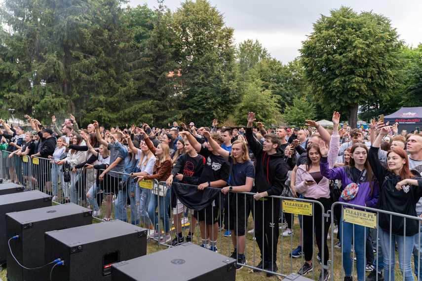
[[[338,127],[340,122],[340,114],[334,112],[333,114],[333,123],[334,130],[333,135],[331,136],[330,146],[339,145],[340,136],[338,133]],[[328,153],[328,163],[329,168],[333,168],[336,163],[337,151],[330,150]],[[318,143],[311,143],[307,146],[307,162],[304,165],[300,165],[296,172],[296,191],[302,193],[305,199],[316,200],[322,204],[324,211],[327,212],[331,209],[331,199],[330,199],[330,183],[328,178],[322,176],[320,170],[321,162],[321,152],[319,149]],[[302,217],[302,229],[303,229],[303,239],[304,239],[304,253],[305,253],[305,263],[302,268],[299,269],[298,274],[306,275],[309,271],[313,270],[312,267],[312,249],[313,249],[313,239],[314,234],[316,237],[316,245],[320,253],[324,251],[324,257],[321,262],[324,265],[328,265],[328,246],[327,246],[327,234],[328,228],[330,227],[331,220],[324,219],[324,244],[321,244],[322,237],[322,209],[319,204],[314,205],[313,217],[309,215],[304,215]],[[312,219],[314,218],[315,229],[312,229]],[[330,278],[328,270],[324,269],[321,271],[319,276],[320,281],[327,281]]]

